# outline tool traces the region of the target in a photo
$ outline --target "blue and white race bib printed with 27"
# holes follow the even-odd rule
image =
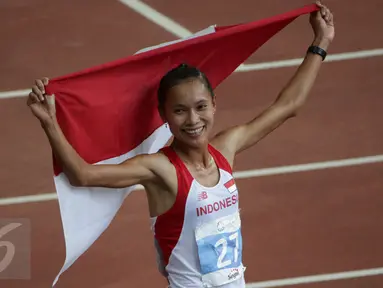
[[[195,231],[204,287],[242,277],[242,235],[239,212],[199,226]]]

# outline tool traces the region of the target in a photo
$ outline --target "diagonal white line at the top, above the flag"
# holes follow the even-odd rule
[[[152,21],[153,23],[157,24],[158,26],[164,28],[166,31],[172,33],[173,35],[179,37],[179,38],[185,38],[188,36],[191,36],[193,33],[180,25],[179,23],[173,21],[169,17],[165,16],[164,14],[158,12],[157,10],[153,9],[149,5],[138,1],[138,0],[119,0],[121,3],[125,4],[126,6],[130,7],[137,13],[144,16],[146,19]]]

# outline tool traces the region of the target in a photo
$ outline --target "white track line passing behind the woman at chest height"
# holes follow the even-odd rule
[[[379,162],[383,162],[383,155],[238,171],[238,172],[234,172],[233,174],[234,174],[234,178],[236,179],[246,179],[246,178],[253,178],[253,177],[279,175],[279,174],[285,174],[285,173],[297,173],[297,172],[305,172],[305,171],[312,171],[312,170],[340,168],[340,167],[356,166],[356,165],[363,165],[363,164],[373,164],[373,163],[379,163]],[[140,185],[138,185],[136,188],[136,190],[142,190],[142,189],[143,188]],[[0,206],[33,203],[33,202],[44,202],[44,201],[50,201],[55,199],[57,199],[56,193],[0,198]]]

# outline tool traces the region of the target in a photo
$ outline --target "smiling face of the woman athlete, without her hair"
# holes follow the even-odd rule
[[[215,99],[199,79],[169,89],[164,120],[178,141],[194,148],[206,145],[214,124]]]

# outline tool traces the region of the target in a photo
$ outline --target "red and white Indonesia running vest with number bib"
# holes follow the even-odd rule
[[[214,187],[205,187],[172,148],[161,151],[178,179],[173,207],[151,218],[159,270],[169,287],[245,287],[238,190],[229,163],[209,145],[220,179]]]

